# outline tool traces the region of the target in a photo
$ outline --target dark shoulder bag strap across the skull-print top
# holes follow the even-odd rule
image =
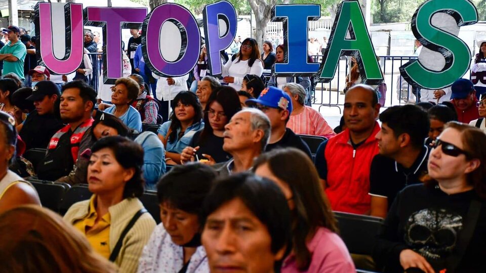
[[[476,229],[477,219],[479,218],[479,212],[481,211],[481,202],[476,199],[471,201],[469,209],[464,219],[464,229],[458,234],[456,249],[452,255],[447,259],[448,273],[454,273],[456,271],[459,262],[466,252],[469,241],[471,241],[472,234]]]

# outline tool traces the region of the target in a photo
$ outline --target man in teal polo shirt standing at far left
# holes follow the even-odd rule
[[[4,61],[4,74],[14,73],[24,80],[24,59],[27,54],[25,45],[19,40],[20,30],[17,26],[9,26],[9,42],[0,50],[0,61]]]

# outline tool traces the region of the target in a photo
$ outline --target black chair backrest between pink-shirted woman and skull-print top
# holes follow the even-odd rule
[[[371,255],[383,219],[368,215],[334,212],[341,238],[349,253]]]

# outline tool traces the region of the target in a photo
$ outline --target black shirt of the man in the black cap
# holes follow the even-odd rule
[[[25,142],[25,149],[46,149],[52,136],[64,127],[62,121],[54,114],[39,115],[32,111],[24,121],[19,132],[20,138]]]

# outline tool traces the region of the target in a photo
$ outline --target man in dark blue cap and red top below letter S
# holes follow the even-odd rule
[[[469,123],[471,120],[479,118],[474,84],[468,79],[461,78],[452,84],[451,89],[451,100],[456,109],[457,120]]]

